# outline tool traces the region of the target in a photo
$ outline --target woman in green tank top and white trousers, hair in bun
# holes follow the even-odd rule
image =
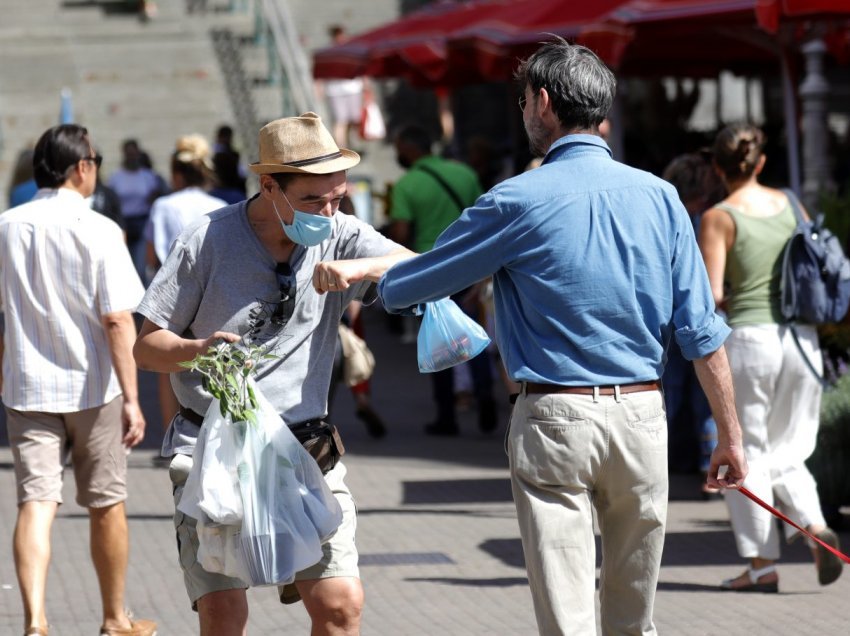
[[[726,351],[750,465],[745,486],[837,546],[805,465],[815,448],[821,385],[779,311],[782,251],[796,223],[785,194],[758,182],[766,160],[763,147],[764,135],[754,126],[729,126],[718,134],[715,168],[729,195],[703,215],[699,244],[714,300],[726,309],[732,327]],[[816,330],[798,325],[797,332],[805,355],[820,370]],[[777,592],[776,523],[739,492],[726,491],[725,499],[738,552],[749,567],[723,581],[721,589]],[[787,540],[799,535],[791,526],[785,529]],[[823,548],[812,552],[819,583],[838,579],[841,561]]]

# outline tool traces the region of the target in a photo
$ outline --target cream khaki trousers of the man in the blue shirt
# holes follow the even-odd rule
[[[540,634],[655,634],[667,519],[667,421],[659,391],[521,394],[508,433],[511,484]]]

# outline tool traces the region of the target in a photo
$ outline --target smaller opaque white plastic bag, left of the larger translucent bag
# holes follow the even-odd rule
[[[233,423],[213,400],[198,433],[192,470],[177,509],[193,519],[206,515],[219,524],[242,521],[242,493],[237,470],[242,462],[245,422]]]

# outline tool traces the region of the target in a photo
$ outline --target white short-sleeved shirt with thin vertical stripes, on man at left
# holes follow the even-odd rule
[[[117,397],[101,318],[143,295],[120,228],[73,190],[39,190],[0,215],[5,406],[69,413]]]

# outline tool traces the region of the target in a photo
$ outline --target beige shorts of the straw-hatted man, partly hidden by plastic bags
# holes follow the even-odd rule
[[[188,461],[187,461],[188,459]],[[198,532],[196,521],[176,509],[183,494],[186,477],[191,470],[191,458],[185,455],[175,455],[171,462],[171,481],[174,485],[174,527],[177,530],[177,551],[180,557],[180,567],[183,569],[183,582],[186,593],[192,602],[192,609],[197,611],[198,599],[211,592],[245,589],[245,583],[240,579],[214,572],[207,572],[198,563]],[[322,559],[316,565],[302,570],[295,575],[296,581],[313,581],[336,576],[360,577],[357,566],[357,547],[354,535],[357,530],[357,509],[351,491],[345,485],[346,469],[342,462],[337,463],[326,475],[325,481],[333,492],[342,508],[342,525],[322,546]],[[281,603],[297,603],[301,600],[295,584],[278,587]]]

